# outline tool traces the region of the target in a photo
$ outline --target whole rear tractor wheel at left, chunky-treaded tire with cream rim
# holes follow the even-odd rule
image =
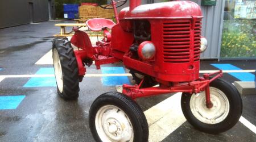
[[[79,97],[79,70],[76,56],[67,39],[54,39],[52,59],[57,92],[64,99]]]

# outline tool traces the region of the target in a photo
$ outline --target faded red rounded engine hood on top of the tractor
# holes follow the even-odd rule
[[[119,19],[158,19],[202,17],[200,6],[191,1],[172,1],[141,5],[129,11],[129,7],[119,12]]]

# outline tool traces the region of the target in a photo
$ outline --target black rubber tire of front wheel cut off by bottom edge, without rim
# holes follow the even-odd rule
[[[125,114],[130,119],[130,122],[133,126],[133,131],[134,131],[133,141],[138,141],[138,142],[148,141],[147,119],[143,111],[141,110],[141,107],[131,98],[117,92],[108,92],[100,95],[92,103],[92,106],[90,106],[89,126],[90,126],[90,131],[92,132],[92,135],[94,137],[94,140],[104,141],[104,140],[101,140],[100,137],[98,136],[96,126],[95,126],[96,125],[95,119],[96,119],[97,111],[100,110],[102,106],[106,106],[106,105],[117,106],[121,108],[123,112],[125,112]]]

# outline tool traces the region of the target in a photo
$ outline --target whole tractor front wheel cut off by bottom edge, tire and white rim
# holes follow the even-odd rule
[[[95,99],[89,111],[90,131],[96,141],[148,141],[148,124],[131,98],[108,92]]]

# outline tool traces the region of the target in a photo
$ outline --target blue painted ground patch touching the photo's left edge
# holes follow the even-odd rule
[[[0,110],[16,109],[25,95],[0,96]]]

